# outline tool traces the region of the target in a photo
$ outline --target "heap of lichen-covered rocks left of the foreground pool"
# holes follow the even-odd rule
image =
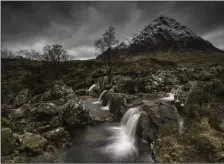
[[[29,102],[26,97],[29,91],[25,91],[17,96],[16,108],[7,109],[3,118],[2,155],[7,162],[25,162],[48,154],[52,144],[68,149],[69,129],[91,123],[89,111],[63,81],[55,82],[53,88]]]

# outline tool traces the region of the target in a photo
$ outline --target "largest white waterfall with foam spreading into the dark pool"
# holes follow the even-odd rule
[[[101,152],[109,154],[112,160],[115,161],[132,161],[137,158],[135,133],[139,117],[139,109],[130,108],[123,116],[120,126],[108,129],[112,132],[112,137],[108,138],[111,143],[102,147]]]

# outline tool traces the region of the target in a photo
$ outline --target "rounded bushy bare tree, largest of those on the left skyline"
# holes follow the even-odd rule
[[[51,62],[52,70],[54,70],[56,77],[59,76],[60,68],[62,66],[62,62],[66,62],[69,60],[68,52],[58,44],[54,45],[46,45],[43,48],[44,51],[44,59]]]

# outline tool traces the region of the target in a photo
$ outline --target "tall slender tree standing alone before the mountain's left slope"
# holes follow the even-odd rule
[[[104,67],[106,69],[108,84],[112,85],[112,72],[115,66],[114,58],[112,56],[112,46],[116,45],[118,41],[115,38],[115,28],[109,26],[103,33],[102,38],[96,40],[95,47],[99,48],[101,53],[106,53],[106,60]]]

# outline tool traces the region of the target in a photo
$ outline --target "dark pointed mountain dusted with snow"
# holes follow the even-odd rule
[[[158,51],[202,51],[217,52],[222,50],[202,39],[186,26],[167,16],[160,16],[134,34],[126,44],[122,42],[113,49],[113,56],[118,57],[138,55],[140,53],[155,53]],[[107,57],[107,51],[97,56],[97,59]]]

